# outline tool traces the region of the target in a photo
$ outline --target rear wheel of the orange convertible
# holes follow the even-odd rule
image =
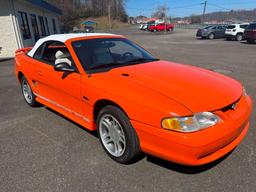
[[[26,103],[31,107],[37,107],[39,104],[35,100],[36,96],[34,95],[27,79],[24,76],[21,78],[20,83],[21,83],[22,95],[23,95],[24,100],[26,101]]]

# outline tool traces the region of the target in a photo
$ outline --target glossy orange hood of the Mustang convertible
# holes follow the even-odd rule
[[[118,78],[122,81],[121,77],[125,75],[130,84],[137,84],[164,95],[194,113],[221,109],[242,95],[242,85],[229,77],[167,61],[115,68],[108,73],[116,81],[119,81]],[[147,97],[145,91],[140,94]]]

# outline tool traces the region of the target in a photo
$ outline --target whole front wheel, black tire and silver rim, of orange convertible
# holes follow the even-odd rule
[[[115,161],[127,164],[140,154],[138,136],[126,114],[108,105],[97,116],[97,132],[106,153]]]

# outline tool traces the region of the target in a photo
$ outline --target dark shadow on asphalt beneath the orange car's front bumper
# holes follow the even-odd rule
[[[169,161],[166,161],[166,160],[159,159],[157,157],[153,157],[151,155],[148,155],[146,159],[150,163],[156,164],[156,165],[164,167],[166,169],[176,171],[176,172],[179,172],[179,173],[183,173],[183,174],[192,175],[192,174],[198,174],[198,173],[205,172],[205,171],[217,166],[219,163],[221,163],[227,157],[229,157],[234,150],[235,149],[233,149],[231,152],[229,152],[228,154],[226,154],[225,156],[221,157],[220,159],[218,159],[216,161],[213,161],[211,163],[208,163],[206,165],[201,165],[201,166],[180,165],[180,164],[177,164],[177,163],[172,163],[172,162],[169,162]]]

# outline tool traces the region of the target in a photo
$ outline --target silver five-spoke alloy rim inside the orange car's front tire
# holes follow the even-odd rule
[[[126,148],[124,131],[118,120],[105,114],[99,121],[100,139],[105,149],[113,156],[120,157]]]

